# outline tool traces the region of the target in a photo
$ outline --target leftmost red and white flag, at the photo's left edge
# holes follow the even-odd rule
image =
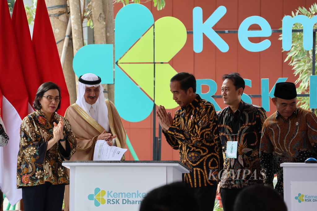
[[[28,115],[26,92],[16,40],[7,1],[0,1],[0,89],[3,94],[3,123],[9,136],[7,146],[0,147],[0,186],[10,204],[22,198],[16,188],[16,163],[20,143],[20,125]]]

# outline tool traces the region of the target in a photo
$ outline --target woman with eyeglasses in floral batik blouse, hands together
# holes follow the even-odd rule
[[[42,84],[33,106],[36,110],[20,127],[17,187],[22,188],[25,211],[60,211],[69,183],[62,161],[74,154],[76,139],[68,120],[55,113],[61,107],[61,91],[56,84]]]

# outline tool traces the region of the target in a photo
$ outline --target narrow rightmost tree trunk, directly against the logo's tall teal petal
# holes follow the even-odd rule
[[[107,44],[113,45],[113,65],[114,65],[114,18],[112,0],[102,0],[103,11],[106,14],[106,41]],[[114,68],[114,66],[113,66]],[[114,69],[113,69],[114,70]],[[114,71],[113,71],[114,74]],[[114,103],[114,78],[113,84],[108,84],[108,97]]]

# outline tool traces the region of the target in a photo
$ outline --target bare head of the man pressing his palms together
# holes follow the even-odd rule
[[[188,72],[179,72],[171,78],[173,100],[180,106],[188,106],[196,98],[196,79]]]

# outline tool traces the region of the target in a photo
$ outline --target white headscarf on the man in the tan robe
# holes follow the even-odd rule
[[[98,76],[93,73],[86,73],[81,76],[81,79],[86,81],[96,81],[98,80]],[[96,119],[95,121],[98,122],[103,128],[105,128],[108,132],[110,131],[109,127],[109,120],[108,120],[108,108],[105,102],[105,97],[103,95],[103,87],[101,84],[83,84],[81,82],[78,83],[78,98],[76,100],[76,104],[79,105],[82,109],[84,109],[89,116],[90,115],[90,107],[91,105],[86,102],[84,94],[87,87],[100,87],[99,97],[97,101],[92,105],[95,109]]]

